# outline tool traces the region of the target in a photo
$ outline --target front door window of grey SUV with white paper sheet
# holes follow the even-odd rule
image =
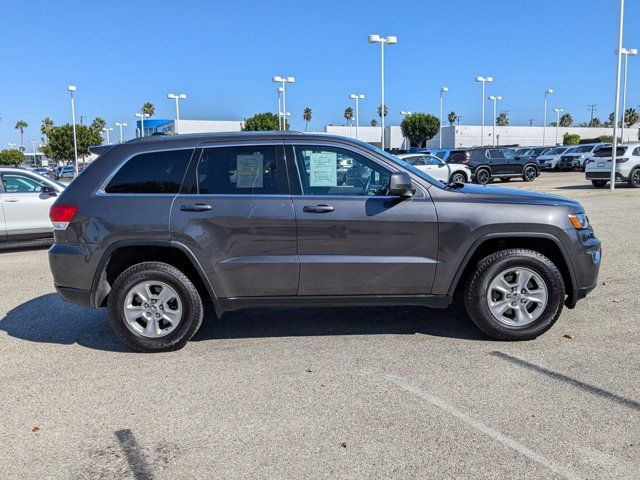
[[[304,195],[387,195],[391,172],[355,152],[294,147]]]

